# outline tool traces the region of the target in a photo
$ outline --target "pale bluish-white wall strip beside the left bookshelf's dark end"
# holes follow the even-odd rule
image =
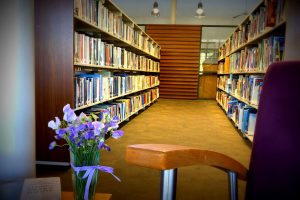
[[[0,198],[19,199],[35,177],[33,0],[2,1],[0,27]]]

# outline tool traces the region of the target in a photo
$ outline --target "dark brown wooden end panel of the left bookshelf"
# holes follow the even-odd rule
[[[54,131],[48,122],[62,119],[73,106],[73,0],[35,1],[36,159],[68,162],[67,148],[48,149]]]

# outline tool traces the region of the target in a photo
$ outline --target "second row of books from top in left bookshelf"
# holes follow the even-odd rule
[[[74,62],[120,69],[159,71],[159,62],[137,55],[125,48],[103,42],[100,38],[90,37],[75,31]]]

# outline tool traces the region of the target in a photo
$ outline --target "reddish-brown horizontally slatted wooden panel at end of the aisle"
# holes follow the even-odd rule
[[[161,98],[197,99],[201,26],[147,25],[161,46]]]

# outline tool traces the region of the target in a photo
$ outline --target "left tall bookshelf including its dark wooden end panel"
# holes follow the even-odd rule
[[[53,117],[109,109],[121,122],[159,97],[160,46],[110,0],[35,1],[36,159],[68,165],[49,151]]]

